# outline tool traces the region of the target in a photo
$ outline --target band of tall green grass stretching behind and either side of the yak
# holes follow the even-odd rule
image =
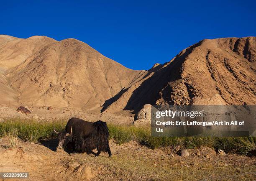
[[[7,119],[0,122],[0,137],[13,138],[13,140],[10,140],[11,145],[15,144],[15,139],[37,142],[40,139],[56,138],[56,134],[53,132],[54,127],[61,132],[66,124],[67,120],[37,122],[36,120],[22,120],[19,118]],[[110,139],[114,139],[118,144],[134,140],[151,149],[176,147],[178,145],[184,148],[208,146],[243,155],[256,149],[255,137],[152,137],[149,127],[108,124],[108,128]]]

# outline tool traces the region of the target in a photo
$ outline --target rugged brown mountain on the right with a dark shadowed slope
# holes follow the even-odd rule
[[[256,37],[205,39],[156,64],[104,110],[138,111],[145,104],[189,105],[220,94],[227,105],[255,105]]]

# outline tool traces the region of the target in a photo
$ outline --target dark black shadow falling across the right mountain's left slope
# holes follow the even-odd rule
[[[124,110],[132,110],[133,113],[136,113],[145,104],[155,105],[159,98],[163,98],[170,105],[174,104],[174,101],[171,99],[172,87],[182,80],[182,64],[193,49],[200,46],[201,43],[202,41],[190,46],[185,52],[180,52],[169,65],[167,65],[169,62],[166,62],[148,70],[148,74],[143,79],[151,73],[154,74],[133,91]],[[122,89],[114,97],[106,100],[101,112],[105,111],[109,105],[118,100],[127,90]],[[161,95],[159,94],[160,91]],[[189,97],[192,97],[192,95],[189,95]]]

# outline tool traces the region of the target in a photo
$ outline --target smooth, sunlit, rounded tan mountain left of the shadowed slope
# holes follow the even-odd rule
[[[17,43],[8,46],[14,50],[8,56],[11,57],[8,62],[13,61],[14,65],[9,63],[4,75],[12,91],[17,92],[16,100],[25,105],[96,109],[143,74],[143,71],[127,69],[102,56],[78,40],[48,41],[39,46],[38,39],[41,43],[44,37],[26,39],[34,40],[33,48],[28,45],[28,48],[17,48]],[[7,47],[6,44],[0,49]],[[26,52],[27,57],[19,59],[15,54],[17,51]],[[5,49],[3,52],[5,54]]]

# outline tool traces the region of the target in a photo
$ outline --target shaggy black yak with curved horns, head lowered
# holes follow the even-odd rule
[[[95,156],[99,156],[101,151],[108,152],[109,157],[112,155],[108,143],[108,126],[101,120],[88,122],[79,118],[71,118],[64,132],[58,133],[55,129],[54,132],[58,134],[57,149],[71,144],[73,152],[90,154],[96,148],[98,152],[93,153]]]

